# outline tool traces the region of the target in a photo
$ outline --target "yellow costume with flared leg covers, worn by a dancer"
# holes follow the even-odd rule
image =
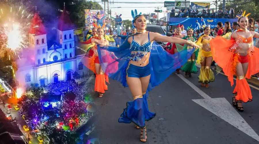
[[[208,58],[208,57],[212,56],[211,51],[207,52],[207,51],[203,50],[203,45],[210,46],[210,40],[211,40],[211,39],[210,40],[202,39],[205,36],[206,35],[201,36],[198,39],[198,41],[196,42],[196,44],[201,47],[199,54],[198,54],[197,61],[196,61],[198,65],[201,65],[204,58]],[[214,80],[215,80],[214,73],[211,70],[210,66],[201,66],[200,75],[198,78],[199,78],[199,82],[203,83],[203,84],[207,84],[209,82],[214,82]]]

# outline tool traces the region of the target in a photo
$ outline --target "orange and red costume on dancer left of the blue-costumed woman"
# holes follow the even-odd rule
[[[98,37],[92,37],[95,39],[100,39]],[[95,63],[100,64],[99,62],[99,57],[98,57],[98,52],[97,52],[97,45],[96,44],[92,44],[92,38],[90,38],[89,40],[82,42],[83,44],[87,44],[87,49],[88,48],[92,48],[93,53],[91,54],[91,58],[89,57],[85,57],[82,59],[83,64],[90,69],[91,71],[93,71],[96,74],[96,79],[95,79],[95,86],[94,86],[94,91],[95,92],[99,92],[99,93],[105,93],[105,90],[108,90],[108,86],[106,85],[105,82],[109,83],[109,79],[108,76],[106,75],[106,73],[104,72],[100,72],[100,73],[96,73],[96,69],[95,69]],[[91,52],[91,51],[89,51]],[[107,62],[111,59],[113,59],[110,55],[108,55],[108,53],[106,54],[107,58],[104,59]],[[113,65],[114,66],[114,65]],[[118,66],[117,66],[118,68]],[[114,67],[114,70],[117,71],[116,66]]]

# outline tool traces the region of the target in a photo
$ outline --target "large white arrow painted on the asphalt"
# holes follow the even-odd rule
[[[247,122],[242,118],[242,116],[235,110],[234,107],[226,98],[211,98],[207,94],[205,94],[201,89],[191,83],[188,79],[186,79],[182,75],[178,75],[186,84],[188,84],[191,88],[193,88],[198,94],[200,94],[204,99],[194,99],[195,103],[201,105],[208,111],[214,113],[218,117],[222,118],[229,124],[238,128],[245,134],[259,141],[259,136],[256,132],[247,124]]]

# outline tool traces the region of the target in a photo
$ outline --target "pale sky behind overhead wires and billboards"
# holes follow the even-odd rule
[[[104,4],[101,3],[101,0],[95,0],[96,2],[99,2],[102,7],[104,7]],[[172,0],[109,0],[111,1],[111,4],[109,4],[109,7],[112,10],[112,16],[115,17],[114,12],[117,12],[119,14],[122,14],[121,18],[122,20],[132,20],[131,16],[131,10],[137,10],[138,13],[142,12],[142,14],[148,14],[148,13],[155,13],[155,7],[159,7],[163,10],[163,12],[158,14],[159,18],[162,18],[166,16],[165,11],[166,7],[164,7],[164,1],[172,1]],[[112,2],[116,3],[112,3]],[[207,0],[207,1],[201,1],[201,0],[189,0],[190,2],[210,2],[212,3],[213,0]],[[148,2],[148,3],[120,3],[120,2]],[[155,3],[152,3],[155,2]],[[218,3],[219,4],[219,3]],[[121,7],[121,8],[117,8]],[[212,6],[214,7],[214,6]],[[211,8],[212,8],[211,7]],[[106,2],[106,10],[107,10],[107,2]]]

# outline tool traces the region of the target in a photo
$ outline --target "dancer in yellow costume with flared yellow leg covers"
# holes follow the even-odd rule
[[[209,36],[210,34],[210,27],[204,27],[204,35],[202,35],[198,41],[197,45],[201,46],[199,50],[197,64],[201,65],[200,75],[199,75],[199,83],[201,86],[205,86],[206,88],[209,87],[210,82],[214,82],[214,73],[210,69],[212,63],[212,53],[210,48],[210,40],[214,39],[214,37]]]

